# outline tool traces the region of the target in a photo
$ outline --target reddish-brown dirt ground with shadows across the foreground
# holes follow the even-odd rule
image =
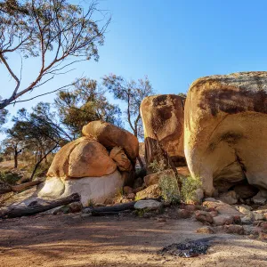
[[[267,243],[246,236],[214,234],[207,255],[157,255],[162,247],[197,234],[193,219],[79,214],[22,217],[0,221],[0,266],[267,266]]]

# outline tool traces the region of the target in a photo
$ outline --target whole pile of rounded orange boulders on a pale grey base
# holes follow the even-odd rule
[[[83,205],[114,197],[130,179],[139,153],[134,134],[106,122],[93,121],[83,137],[69,142],[53,158],[40,198],[77,192]]]

